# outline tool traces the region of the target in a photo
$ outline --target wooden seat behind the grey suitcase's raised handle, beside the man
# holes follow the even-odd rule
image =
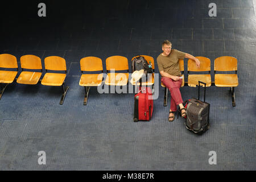
[[[205,82],[207,84],[206,86],[212,85],[210,75],[188,75],[188,86],[196,87],[198,85],[198,81]]]

